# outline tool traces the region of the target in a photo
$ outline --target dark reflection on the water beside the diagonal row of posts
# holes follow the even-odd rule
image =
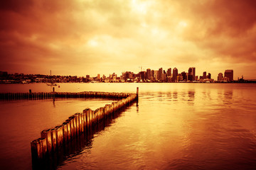
[[[100,123],[90,126],[85,130],[85,133],[79,135],[68,144],[63,145],[63,147],[58,148],[58,150],[54,152],[54,154],[50,154],[49,157],[47,157],[46,159],[32,159],[32,168],[57,169],[58,166],[64,165],[66,160],[74,159],[83,152],[90,152],[90,149],[92,148],[92,141],[95,135],[110,126],[113,123],[114,119],[118,118],[121,113],[127,111],[129,107],[132,106],[132,104],[134,104],[135,102],[137,102],[137,110],[139,112],[138,101],[133,101],[129,105],[121,108],[119,111],[111,113],[104,120],[101,120]]]

